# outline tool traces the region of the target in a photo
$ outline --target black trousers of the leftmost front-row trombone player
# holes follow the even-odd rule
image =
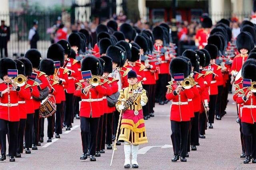
[[[16,156],[18,144],[19,121],[0,119],[0,146],[1,154],[6,154],[6,135],[8,136],[9,156]]]

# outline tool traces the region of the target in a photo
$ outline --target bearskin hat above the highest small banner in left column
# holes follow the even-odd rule
[[[64,65],[64,49],[61,45],[55,43],[50,45],[47,51],[47,58],[53,61],[60,61],[60,66]]]

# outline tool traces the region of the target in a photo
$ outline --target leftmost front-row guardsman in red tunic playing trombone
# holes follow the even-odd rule
[[[8,135],[10,162],[15,162],[14,156],[16,156],[17,153],[20,121],[18,99],[19,97],[23,98],[27,94],[24,88],[17,86],[17,84],[8,77],[8,69],[16,69],[16,63],[9,58],[1,59],[0,78],[4,80],[4,82],[0,83],[0,161],[6,159],[6,135]]]

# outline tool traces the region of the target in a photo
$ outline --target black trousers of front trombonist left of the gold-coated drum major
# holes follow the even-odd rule
[[[88,151],[88,142],[90,155],[95,155],[96,153],[96,143],[97,143],[97,133],[99,127],[99,117],[88,118],[80,117],[80,129],[82,138],[82,148],[83,152]],[[89,139],[87,139],[89,137]]]

